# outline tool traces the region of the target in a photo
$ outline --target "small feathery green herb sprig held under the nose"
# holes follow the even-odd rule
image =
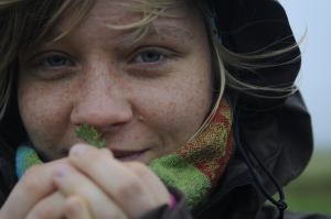
[[[88,129],[87,124],[82,124],[75,129],[75,133],[77,138],[84,139],[87,143],[96,146],[97,149],[107,146],[107,142],[105,141],[105,139],[104,141],[98,141],[102,134],[99,134],[98,131],[93,127]]]

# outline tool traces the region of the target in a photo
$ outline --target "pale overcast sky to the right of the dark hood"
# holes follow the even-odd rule
[[[279,0],[299,40],[308,26],[301,92],[312,116],[316,149],[331,151],[331,0]],[[301,51],[302,51],[301,50]]]

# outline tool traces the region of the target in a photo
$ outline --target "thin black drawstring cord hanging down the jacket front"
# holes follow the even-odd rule
[[[284,211],[287,208],[287,202],[285,200],[285,196],[284,196],[284,191],[279,185],[279,183],[277,182],[277,179],[275,178],[275,176],[269,172],[269,169],[264,165],[264,163],[259,160],[259,157],[257,156],[257,154],[254,152],[254,150],[252,149],[246,134],[243,130],[243,119],[239,118],[241,116],[241,109],[238,108],[235,114],[235,121],[234,121],[234,140],[236,143],[237,149],[239,150],[239,152],[242,153],[245,163],[248,166],[248,169],[250,171],[257,186],[259,187],[259,189],[261,190],[261,193],[267,197],[268,200],[270,200],[279,210],[279,216],[277,219],[284,219]],[[252,155],[254,156],[254,158],[257,161],[257,163],[260,165],[260,167],[265,171],[265,173],[270,177],[270,179],[273,180],[273,183],[275,184],[278,193],[279,193],[279,198],[280,200],[275,200],[270,194],[267,191],[267,189],[264,187],[264,185],[261,184],[261,182],[259,180],[255,168],[253,167],[246,152],[244,151],[242,144],[241,144],[241,140],[239,140],[239,135],[238,132],[242,133],[243,139],[247,145],[247,149],[249,150],[249,152],[252,153]]]

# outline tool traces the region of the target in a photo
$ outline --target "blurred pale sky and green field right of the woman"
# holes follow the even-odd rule
[[[299,178],[285,187],[289,209],[331,215],[331,0],[279,0],[302,43],[300,90],[312,117],[313,156]],[[278,196],[275,196],[278,198]]]

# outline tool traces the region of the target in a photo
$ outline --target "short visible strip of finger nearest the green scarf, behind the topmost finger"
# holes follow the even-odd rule
[[[164,204],[170,205],[171,198],[167,187],[148,166],[139,162],[125,162],[122,164],[130,168],[145,183],[159,206]]]

